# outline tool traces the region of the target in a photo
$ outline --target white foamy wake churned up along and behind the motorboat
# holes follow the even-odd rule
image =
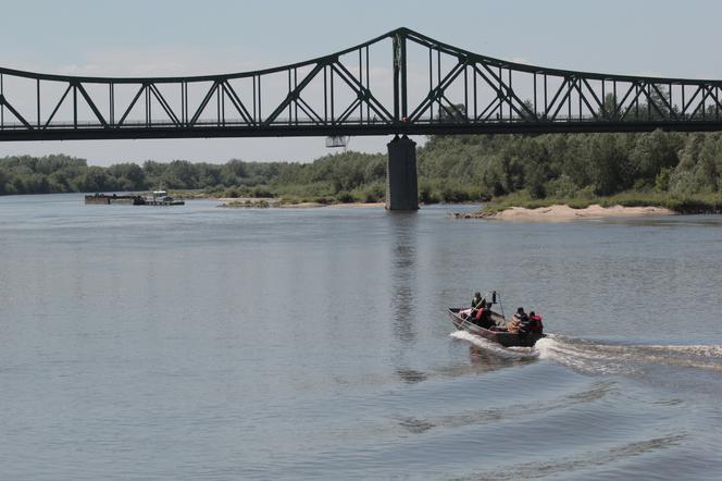
[[[578,372],[634,374],[650,366],[671,366],[722,372],[722,345],[628,345],[605,344],[548,334],[534,347],[503,347],[491,341],[457,331],[452,337],[494,351],[509,359],[548,359]]]

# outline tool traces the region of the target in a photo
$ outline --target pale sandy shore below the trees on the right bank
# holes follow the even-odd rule
[[[564,222],[580,219],[605,219],[612,217],[638,217],[638,215],[671,215],[675,212],[661,207],[601,207],[593,205],[584,209],[572,209],[569,206],[550,206],[538,209],[526,209],[512,207],[494,213],[457,213],[458,219],[494,219],[503,221],[546,221]]]

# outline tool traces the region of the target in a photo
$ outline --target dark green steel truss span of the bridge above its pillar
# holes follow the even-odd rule
[[[399,28],[235,74],[84,77],[0,67],[0,140],[722,130],[722,81],[525,65]]]

